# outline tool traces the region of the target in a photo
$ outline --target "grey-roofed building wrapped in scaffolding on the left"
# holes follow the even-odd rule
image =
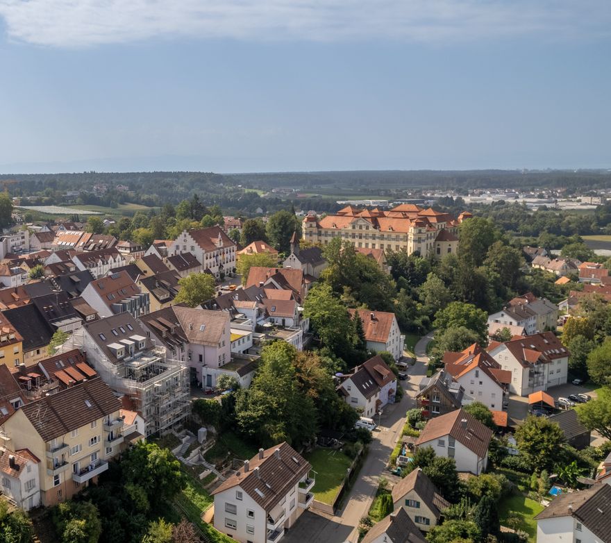
[[[164,435],[190,411],[187,366],[169,360],[127,312],[83,324],[62,348],[87,353],[87,362],[117,394],[128,396],[146,423],[144,435]]]

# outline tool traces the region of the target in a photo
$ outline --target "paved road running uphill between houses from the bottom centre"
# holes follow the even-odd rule
[[[399,403],[384,408],[380,426],[374,433],[374,441],[369,445],[367,458],[349,496],[344,497],[344,508],[338,510],[333,517],[313,510],[306,511],[294,528],[283,537],[286,543],[357,542],[358,523],[371,507],[380,475],[385,472],[388,457],[405,424],[405,412],[415,406],[414,396],[421,378],[426,375],[428,358],[425,350],[431,338],[423,337],[417,343],[417,362],[408,370],[409,380],[401,381],[405,394]]]

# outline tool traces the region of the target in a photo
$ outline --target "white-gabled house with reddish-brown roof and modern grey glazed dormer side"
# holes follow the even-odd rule
[[[119,272],[92,281],[81,297],[100,317],[128,312],[133,317],[149,312],[149,293],[142,292],[127,272]]]

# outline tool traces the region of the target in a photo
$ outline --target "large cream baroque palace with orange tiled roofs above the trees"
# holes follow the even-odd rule
[[[346,206],[335,215],[303,219],[303,239],[326,245],[333,237],[348,240],[355,247],[418,252],[442,258],[458,250],[458,224],[471,217],[462,212],[458,219],[449,213],[402,203],[391,210],[358,209]]]

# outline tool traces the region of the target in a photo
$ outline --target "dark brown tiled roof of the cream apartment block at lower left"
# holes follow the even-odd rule
[[[112,415],[121,402],[101,378],[26,403],[21,408],[44,442]]]

